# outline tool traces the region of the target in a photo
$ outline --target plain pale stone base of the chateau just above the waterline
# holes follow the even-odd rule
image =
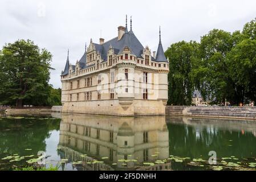
[[[165,115],[165,100],[101,100],[65,102],[63,113],[118,116]]]

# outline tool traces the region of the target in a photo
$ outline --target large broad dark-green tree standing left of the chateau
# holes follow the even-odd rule
[[[6,44],[0,55],[0,104],[46,105],[51,59],[31,40]]]

